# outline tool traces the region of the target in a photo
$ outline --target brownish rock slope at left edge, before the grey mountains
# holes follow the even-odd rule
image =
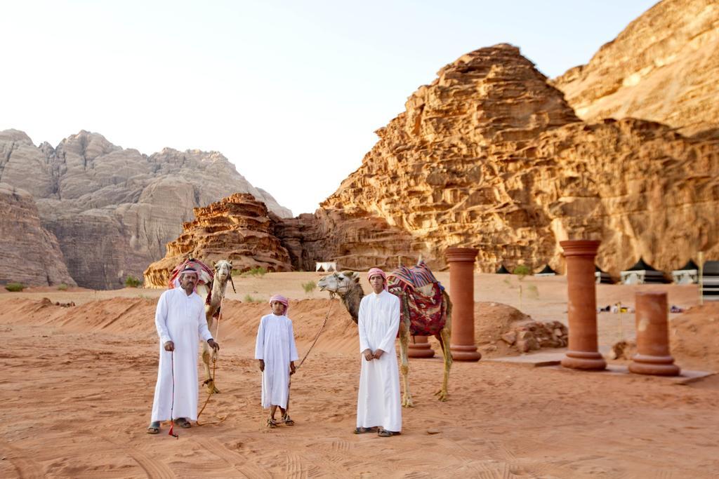
[[[32,195],[0,183],[0,211],[0,284],[75,286],[58,239],[40,224]]]

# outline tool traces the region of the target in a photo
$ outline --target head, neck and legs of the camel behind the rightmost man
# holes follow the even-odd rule
[[[391,276],[392,273],[388,274]],[[347,308],[349,315],[352,316],[352,320],[357,323],[357,317],[359,315],[359,301],[365,296],[365,291],[362,289],[362,285],[359,284],[359,273],[352,271],[342,271],[342,273],[328,274],[322,277],[317,283],[321,291],[327,290],[331,295],[337,294],[342,299],[342,304]],[[390,292],[393,294],[395,290],[390,288]],[[406,294],[417,294],[416,291],[403,292],[398,294],[400,297],[400,303],[402,309],[400,310],[400,371],[402,373],[402,380],[404,385],[404,394],[402,396],[402,406],[412,407],[412,395],[409,391],[408,373],[409,373],[409,361],[408,361],[408,349],[409,349],[409,337],[411,329],[415,326],[416,317],[412,317],[409,311],[408,298]],[[449,294],[442,290],[441,292],[441,307],[442,312],[446,316],[446,322],[441,330],[437,332],[434,337],[439,341],[439,345],[442,348],[442,355],[444,357],[444,380],[442,381],[442,387],[435,393],[438,396],[439,401],[446,401],[449,396],[447,387],[449,383],[449,370],[452,368],[452,354],[449,352],[449,336],[452,331],[452,302],[449,301]]]

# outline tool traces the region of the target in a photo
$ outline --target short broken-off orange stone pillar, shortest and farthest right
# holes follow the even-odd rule
[[[637,293],[636,355],[629,371],[638,374],[678,376],[679,366],[669,354],[667,293]]]

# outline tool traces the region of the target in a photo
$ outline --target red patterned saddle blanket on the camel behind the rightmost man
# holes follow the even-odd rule
[[[387,287],[390,293],[406,297],[406,309],[403,307],[401,314],[409,312],[411,335],[436,335],[444,327],[447,319],[444,287],[424,261],[410,268],[394,269],[387,275]]]

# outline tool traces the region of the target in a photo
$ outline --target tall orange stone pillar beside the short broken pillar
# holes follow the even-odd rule
[[[607,363],[597,350],[597,295],[594,259],[600,241],[560,241],[567,259],[569,345],[565,368],[601,371]]]

